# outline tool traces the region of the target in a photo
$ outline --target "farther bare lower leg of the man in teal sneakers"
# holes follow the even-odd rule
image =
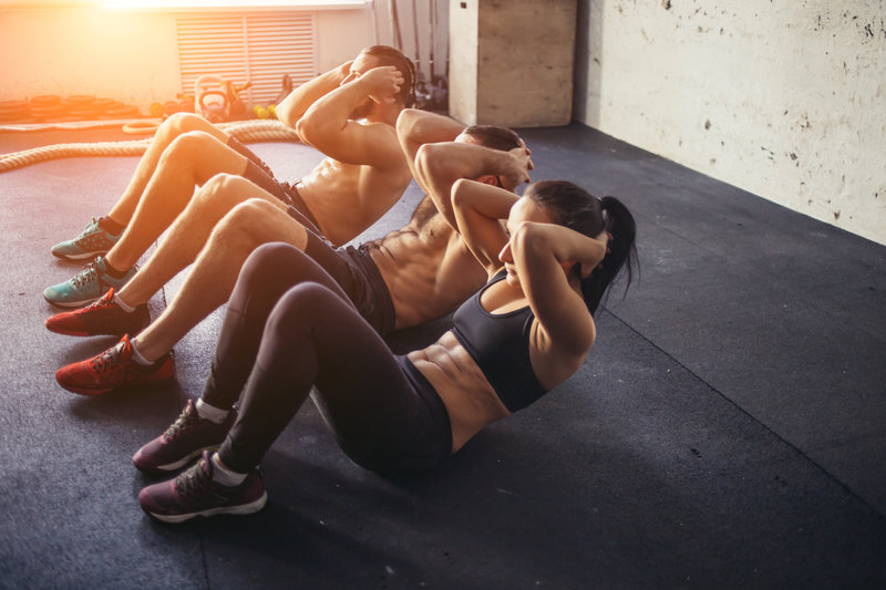
[[[176,137],[192,131],[208,133],[217,137],[222,143],[226,143],[228,138],[225,132],[205,118],[192,113],[176,113],[164,121],[154,134],[154,139],[142,156],[141,162],[138,162],[135,174],[123,192],[123,196],[120,197],[120,200],[117,200],[107,214],[111,219],[124,226],[128,225],[132,216],[135,214],[135,208],[138,206],[138,200],[145,192],[148,180],[151,180],[154,170],[157,168],[163,152]]]

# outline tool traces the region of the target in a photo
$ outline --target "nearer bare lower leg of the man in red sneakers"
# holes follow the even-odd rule
[[[250,199],[218,222],[181,291],[133,343],[148,361],[159,359],[230,297],[240,268],[254,249],[285,241],[303,250],[307,230],[277,205]]]

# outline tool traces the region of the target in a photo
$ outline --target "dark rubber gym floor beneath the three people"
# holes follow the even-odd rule
[[[175,348],[168,386],[62,390],[59,366],[114,339],[43,328],[42,289],[79,269],[49,250],[107,211],[137,158],[0,174],[0,587],[886,587],[886,247],[581,125],[523,134],[535,179],[618,196],[639,226],[641,277],[598,312],[578,374],[401,480],[351,464],[308,404],[266,457],[265,510],[181,526],[138,508],[152,479],[131,456],[200,392],[220,312]],[[124,138],[6,133],[0,153]],[[320,159],[253,147],[286,179]]]

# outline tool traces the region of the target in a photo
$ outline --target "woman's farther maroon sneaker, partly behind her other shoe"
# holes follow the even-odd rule
[[[236,420],[236,407],[230,408],[222,424],[204,420],[197,414],[194,402],[188,400],[178,420],[140,448],[132,462],[140,470],[151,474],[178,469],[204,451],[213,452],[222,446]]]

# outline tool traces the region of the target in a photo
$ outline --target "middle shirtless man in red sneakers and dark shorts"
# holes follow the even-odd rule
[[[286,241],[315,258],[381,334],[453,311],[485,282],[486,275],[434,200],[442,203],[445,197],[449,201],[450,187],[459,178],[513,190],[528,180],[529,152],[509,130],[465,130],[447,117],[421,111],[404,111],[398,133],[419,184],[441,192],[433,200],[425,197],[406,226],[360,248],[334,250],[266,201],[239,205],[218,224],[181,291],[153,324],[133,339],[124,335],[92,359],[60,369],[59,383],[75,393],[96,395],[171,377],[173,345],[227,300],[248,255],[269,241]],[[434,143],[431,148],[422,145],[427,141],[452,143]],[[429,166],[435,166],[434,176],[440,178],[433,188],[423,180]],[[451,208],[444,211],[450,215]],[[56,332],[93,335],[120,334],[122,327],[133,322],[105,296],[90,308],[59,314],[47,323]]]

